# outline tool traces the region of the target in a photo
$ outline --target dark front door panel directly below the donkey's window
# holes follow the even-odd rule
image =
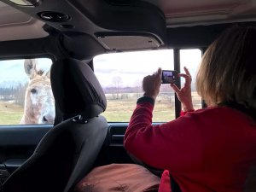
[[[0,182],[28,159],[53,125],[0,126]]]

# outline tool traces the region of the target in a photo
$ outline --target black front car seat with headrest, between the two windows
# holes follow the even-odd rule
[[[90,67],[73,59],[56,61],[51,84],[55,105],[66,120],[55,125],[3,183],[4,192],[68,191],[90,172],[102,148],[108,123],[99,114],[107,101]]]

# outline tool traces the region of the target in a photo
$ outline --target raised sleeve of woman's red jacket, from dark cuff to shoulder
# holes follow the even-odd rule
[[[189,113],[152,125],[154,103],[137,102],[125,132],[125,148],[149,166],[172,171],[196,169],[201,164],[201,134]]]

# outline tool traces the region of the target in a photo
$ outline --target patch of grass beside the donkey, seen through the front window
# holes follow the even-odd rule
[[[12,102],[0,101],[0,125],[17,125],[23,114],[23,108]]]

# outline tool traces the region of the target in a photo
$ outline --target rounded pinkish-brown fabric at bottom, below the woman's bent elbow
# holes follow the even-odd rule
[[[160,177],[135,164],[111,164],[94,168],[75,192],[157,192]]]

